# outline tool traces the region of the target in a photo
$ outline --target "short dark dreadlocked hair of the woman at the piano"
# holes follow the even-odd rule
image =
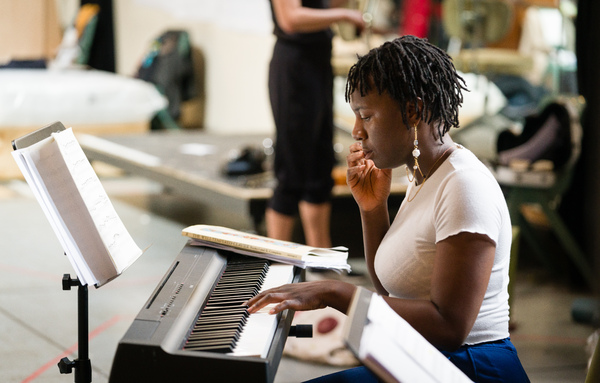
[[[355,90],[365,96],[375,87],[398,102],[407,128],[407,105],[412,104],[417,117],[436,125],[441,139],[450,128],[459,127],[462,90],[468,91],[465,85],[446,52],[426,39],[407,35],[359,57],[348,73],[345,98],[349,102]]]

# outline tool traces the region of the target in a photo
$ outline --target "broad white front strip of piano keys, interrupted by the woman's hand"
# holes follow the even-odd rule
[[[273,263],[269,267],[260,291],[262,292],[290,283],[293,277],[294,266]],[[258,356],[261,358],[267,356],[279,319],[278,315],[268,314],[269,310],[270,307],[267,306],[259,312],[250,315],[233,352],[229,353],[229,355]]]

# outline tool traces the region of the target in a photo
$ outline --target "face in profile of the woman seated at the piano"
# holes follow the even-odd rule
[[[362,141],[366,159],[379,169],[396,168],[412,160],[414,132],[406,128],[398,103],[387,93],[372,89],[361,96],[355,90],[350,107],[356,117],[352,136]]]

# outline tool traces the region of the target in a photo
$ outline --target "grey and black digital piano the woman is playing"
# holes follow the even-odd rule
[[[299,271],[186,245],[119,342],[109,382],[272,382],[293,312],[248,314],[242,303]]]

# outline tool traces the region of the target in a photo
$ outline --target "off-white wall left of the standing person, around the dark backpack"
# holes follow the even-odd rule
[[[273,131],[267,72],[274,38],[267,0],[114,0],[113,7],[118,73],[133,75],[165,30],[185,29],[205,60],[205,129]]]

